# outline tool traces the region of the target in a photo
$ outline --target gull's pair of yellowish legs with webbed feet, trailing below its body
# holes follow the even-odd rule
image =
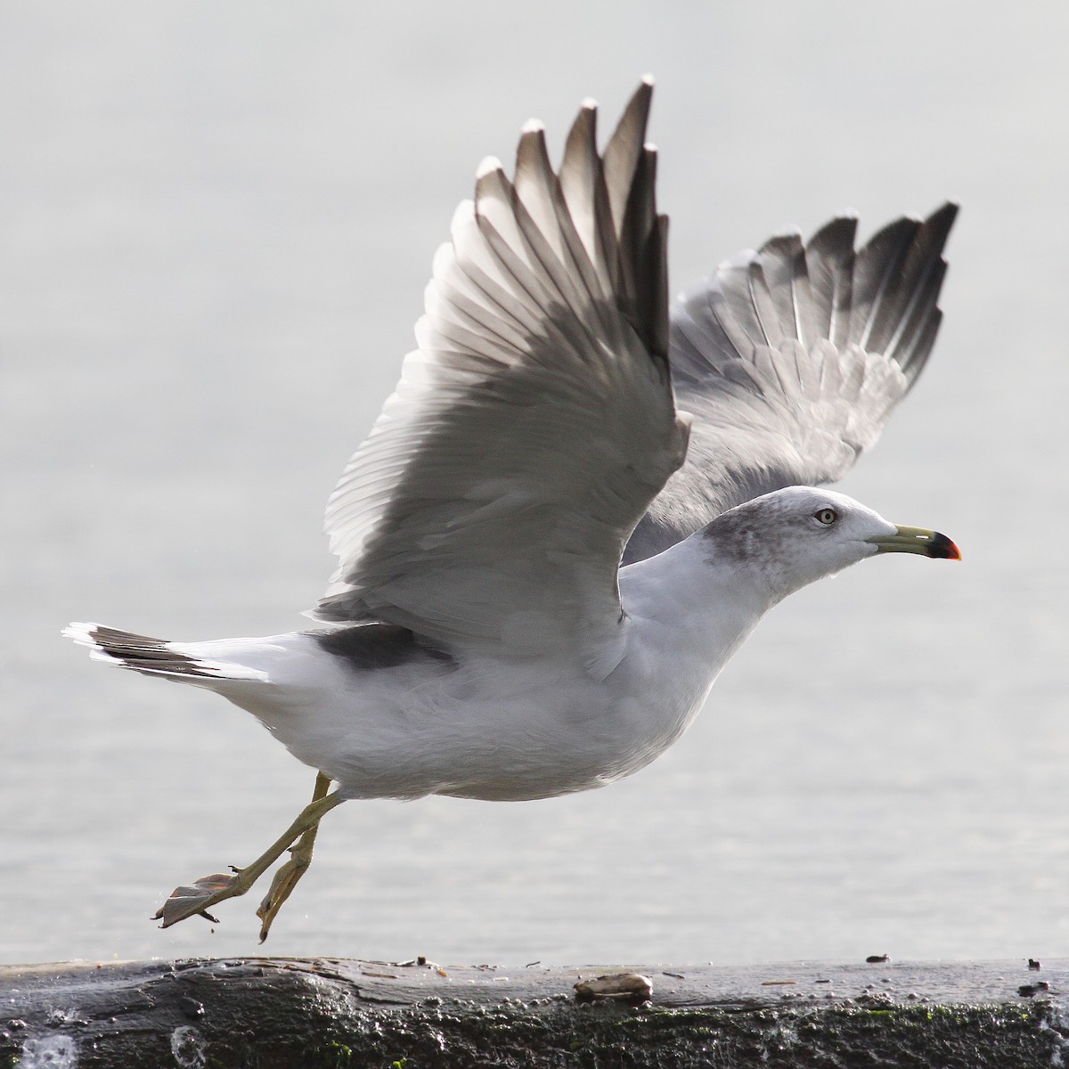
[[[330,777],[321,772],[315,777],[312,801],[300,810],[297,819],[251,865],[242,869],[231,866],[233,874],[215,872],[212,876],[201,877],[190,886],[176,887],[171,897],[155,914],[154,919],[164,921],[159,927],[169,928],[171,925],[197,914],[215,921],[215,917],[207,913],[207,910],[228,898],[237,898],[238,895],[244,895],[286,850],[292,848],[293,859],[279,870],[267,898],[264,899],[258,911],[258,915],[264,921],[260,931],[260,941],[263,942],[267,938],[267,929],[270,928],[275,914],[278,913],[282,902],[290,896],[290,892],[293,890],[297,881],[304,876],[305,869],[311,863],[312,843],[315,841],[320,821],[335,806],[344,801],[338,791],[327,794],[329,785]]]

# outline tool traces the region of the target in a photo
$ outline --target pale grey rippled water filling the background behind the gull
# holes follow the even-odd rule
[[[343,806],[269,949],[1069,955],[1067,30],[1056,0],[4,3],[0,960],[254,950],[251,899],[149,916],[311,771],[59,630],[300,626],[479,159],[647,71],[678,288],[785,224],[962,202],[933,360],[843,489],[965,562],[781,606],[623,784]]]

